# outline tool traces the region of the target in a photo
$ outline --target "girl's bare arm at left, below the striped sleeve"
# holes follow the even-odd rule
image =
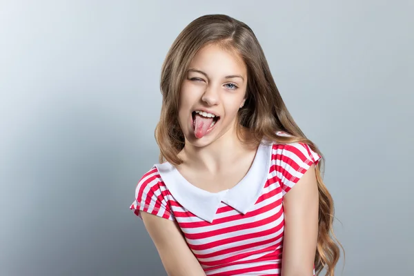
[[[141,217],[168,276],[206,275],[175,221],[146,212],[141,212]]]

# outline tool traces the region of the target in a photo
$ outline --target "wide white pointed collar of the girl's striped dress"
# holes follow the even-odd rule
[[[187,210],[212,222],[221,201],[246,214],[262,193],[270,169],[272,144],[259,144],[255,159],[245,177],[227,192],[210,193],[190,184],[169,162],[156,164],[161,179],[171,195]]]

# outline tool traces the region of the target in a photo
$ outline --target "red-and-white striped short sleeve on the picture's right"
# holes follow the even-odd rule
[[[308,144],[274,144],[273,160],[282,195],[286,195],[312,164],[316,166],[320,159],[321,156],[311,150]]]

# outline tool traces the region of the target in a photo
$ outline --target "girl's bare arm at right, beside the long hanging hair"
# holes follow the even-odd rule
[[[313,275],[319,211],[315,165],[284,195],[283,202],[285,229],[282,276]]]

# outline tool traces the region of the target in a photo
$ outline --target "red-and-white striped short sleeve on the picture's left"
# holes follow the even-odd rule
[[[141,219],[141,211],[144,211],[164,219],[175,220],[169,204],[168,190],[155,166],[139,180],[130,210]]]

